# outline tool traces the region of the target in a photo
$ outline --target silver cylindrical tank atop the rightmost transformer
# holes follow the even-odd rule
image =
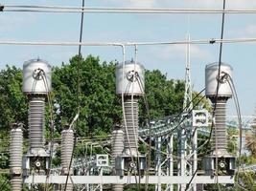
[[[205,95],[208,97],[216,96],[217,94],[217,84],[218,84],[218,74],[219,74],[219,63],[215,62],[208,64],[205,67]],[[233,68],[225,63],[221,63],[221,74],[233,75]],[[232,90],[225,78],[220,80],[218,96],[231,97]]]

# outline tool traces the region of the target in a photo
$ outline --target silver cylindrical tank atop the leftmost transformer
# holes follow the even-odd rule
[[[23,87],[27,95],[46,95],[52,89],[52,71],[48,62],[32,59],[23,65]]]

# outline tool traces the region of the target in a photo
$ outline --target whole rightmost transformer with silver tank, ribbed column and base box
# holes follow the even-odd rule
[[[205,67],[205,95],[211,100],[215,117],[213,118],[212,154],[204,159],[206,175],[234,175],[235,157],[227,152],[226,102],[232,97],[232,89],[227,80],[232,77],[230,65],[208,64]],[[217,90],[219,89],[219,90]]]

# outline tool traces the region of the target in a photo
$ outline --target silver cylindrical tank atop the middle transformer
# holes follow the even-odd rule
[[[124,72],[124,73],[123,73]],[[142,96],[144,94],[144,67],[133,61],[116,66],[116,94]]]

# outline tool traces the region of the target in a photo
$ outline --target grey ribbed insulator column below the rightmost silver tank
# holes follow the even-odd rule
[[[213,146],[218,153],[226,151],[226,125],[225,125],[225,110],[227,98],[219,97],[217,100],[215,111],[215,130],[213,131]]]

